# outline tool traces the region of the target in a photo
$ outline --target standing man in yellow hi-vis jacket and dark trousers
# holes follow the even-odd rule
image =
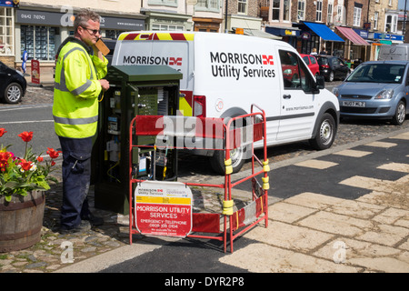
[[[82,10],[75,16],[75,35],[58,48],[53,116],[63,151],[61,231],[77,232],[103,224],[88,209],[91,151],[98,120],[98,96],[109,88],[105,56],[96,48],[100,16]]]

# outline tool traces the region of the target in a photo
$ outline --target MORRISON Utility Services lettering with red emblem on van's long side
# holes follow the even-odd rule
[[[244,78],[275,76],[274,69],[263,67],[274,65],[273,55],[210,52],[210,63],[214,77],[233,77],[238,81],[241,76]]]

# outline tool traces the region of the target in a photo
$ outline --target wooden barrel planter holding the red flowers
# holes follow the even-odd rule
[[[6,202],[0,196],[0,253],[24,249],[41,239],[45,191],[13,196]]]

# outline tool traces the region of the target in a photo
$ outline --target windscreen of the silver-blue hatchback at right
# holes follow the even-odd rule
[[[402,83],[405,65],[363,64],[345,80],[346,82]]]

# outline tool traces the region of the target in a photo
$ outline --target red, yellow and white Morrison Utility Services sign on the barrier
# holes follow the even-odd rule
[[[144,235],[185,237],[192,230],[192,192],[178,182],[145,181],[135,188],[135,223]]]

